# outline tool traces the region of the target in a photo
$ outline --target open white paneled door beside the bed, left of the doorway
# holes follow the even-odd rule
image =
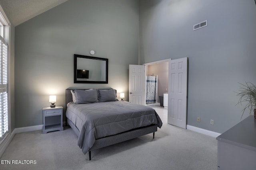
[[[145,66],[129,65],[129,102],[145,105]]]

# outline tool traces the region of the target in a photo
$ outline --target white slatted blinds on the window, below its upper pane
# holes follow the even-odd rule
[[[8,132],[8,46],[0,37],[0,141]]]

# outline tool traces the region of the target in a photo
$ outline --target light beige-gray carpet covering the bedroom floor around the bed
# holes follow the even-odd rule
[[[156,107],[158,108],[158,107]],[[161,112],[161,111],[159,111]],[[160,117],[167,117],[159,113]],[[163,119],[163,118],[162,118]],[[1,170],[216,170],[217,141],[163,120],[155,134],[84,155],[70,127],[64,131],[19,133],[0,158],[23,164],[0,164]],[[24,161],[29,160],[29,161]],[[31,164],[32,163],[36,164]],[[20,161],[20,162],[18,162]],[[27,164],[30,163],[30,164]]]

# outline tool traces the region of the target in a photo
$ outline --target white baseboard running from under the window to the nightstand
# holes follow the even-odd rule
[[[4,151],[8,147],[8,145],[11,143],[14,135],[16,133],[22,133],[22,132],[29,132],[29,131],[37,131],[37,130],[42,130],[43,125],[36,125],[36,126],[28,126],[28,127],[19,127],[15,128],[11,134],[6,136],[6,139],[4,139],[3,143],[0,145],[0,158],[4,154]]]

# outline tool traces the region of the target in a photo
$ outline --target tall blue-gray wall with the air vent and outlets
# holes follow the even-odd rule
[[[242,115],[238,82],[256,84],[255,31],[254,0],[140,0],[139,62],[188,57],[187,124],[223,133]]]

